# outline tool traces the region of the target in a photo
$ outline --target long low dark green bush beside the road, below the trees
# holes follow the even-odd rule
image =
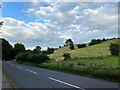
[[[47,60],[50,60],[49,57],[45,54],[31,54],[31,53],[19,53],[16,56],[17,61],[22,61],[22,62],[32,62],[32,63],[42,63]]]

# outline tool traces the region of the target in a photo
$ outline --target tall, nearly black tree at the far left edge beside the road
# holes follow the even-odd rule
[[[7,40],[2,38],[2,60],[10,60],[12,58],[12,50],[12,45],[10,45]]]

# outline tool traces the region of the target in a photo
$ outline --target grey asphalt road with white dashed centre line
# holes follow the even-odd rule
[[[118,83],[36,68],[14,62],[3,62],[3,70],[19,88],[68,88],[89,90],[118,90]],[[103,89],[104,88],[104,89]],[[90,90],[92,90],[90,89]]]

